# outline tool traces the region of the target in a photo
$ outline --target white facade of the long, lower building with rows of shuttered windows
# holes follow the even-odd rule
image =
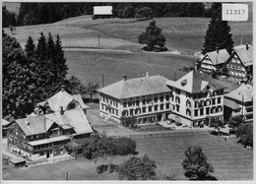
[[[170,111],[170,95],[171,92],[162,92],[116,99],[99,93],[99,115],[119,123],[123,116],[136,116],[139,123],[160,121]]]

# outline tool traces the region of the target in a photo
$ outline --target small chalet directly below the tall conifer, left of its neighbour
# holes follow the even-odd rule
[[[207,52],[200,60],[201,69],[205,71],[218,71],[223,66],[225,61],[229,58],[229,54],[226,49],[217,48],[215,51]]]

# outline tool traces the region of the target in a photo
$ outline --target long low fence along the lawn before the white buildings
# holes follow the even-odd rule
[[[128,137],[130,139],[137,138],[160,138],[160,137],[175,137],[175,136],[192,136],[198,134],[209,134],[209,131],[191,131],[191,132],[164,132],[164,133],[146,133],[146,134],[134,134],[134,135],[122,135],[113,137]]]

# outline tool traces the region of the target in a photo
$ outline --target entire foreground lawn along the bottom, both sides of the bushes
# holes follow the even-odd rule
[[[236,143],[236,139],[228,139],[210,134],[180,136],[167,138],[136,139],[138,156],[147,153],[156,160],[157,171],[165,174],[175,174],[177,180],[187,180],[181,162],[184,151],[189,145],[202,146],[208,161],[215,168],[214,176],[218,180],[252,180],[253,152]],[[114,164],[122,163],[132,155],[116,156]],[[101,160],[97,163],[103,163]],[[65,180],[69,172],[70,180],[116,180],[117,173],[97,174],[94,161],[78,158],[75,161],[65,161],[28,168],[3,167],[3,179],[6,180]],[[104,162],[105,164],[105,162]]]

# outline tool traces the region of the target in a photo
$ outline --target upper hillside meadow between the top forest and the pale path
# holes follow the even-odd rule
[[[166,37],[169,49],[179,50],[193,55],[201,50],[204,36],[208,28],[207,18],[159,18],[157,25]],[[17,39],[24,44],[29,35],[34,40],[40,31],[59,33],[66,47],[97,47],[103,48],[139,49],[138,35],[145,31],[149,21],[139,22],[136,19],[105,19],[92,20],[91,16],[81,16],[63,20],[54,24],[17,27]],[[230,22],[235,44],[239,44],[242,36],[243,43],[252,40],[252,21]],[[8,32],[8,29],[6,29]]]

